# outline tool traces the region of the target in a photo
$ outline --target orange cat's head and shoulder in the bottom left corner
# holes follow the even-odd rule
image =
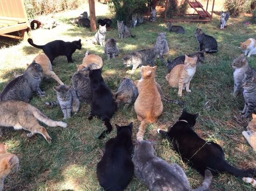
[[[12,153],[7,153],[4,144],[0,144],[0,191],[4,189],[4,179],[18,165],[18,157]]]

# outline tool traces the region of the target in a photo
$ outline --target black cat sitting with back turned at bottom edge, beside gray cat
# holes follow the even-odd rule
[[[123,191],[133,178],[134,164],[131,159],[132,127],[115,125],[117,135],[105,144],[105,152],[97,164],[97,178],[108,191]]]

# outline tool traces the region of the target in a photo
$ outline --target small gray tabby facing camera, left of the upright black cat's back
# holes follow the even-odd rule
[[[57,100],[55,102],[45,102],[46,105],[58,105],[61,106],[61,111],[64,115],[63,119],[71,117],[71,111],[76,113],[79,109],[80,102],[74,88],[66,85],[54,86],[54,90],[57,94]]]

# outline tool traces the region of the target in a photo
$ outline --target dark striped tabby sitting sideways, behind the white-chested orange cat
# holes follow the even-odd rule
[[[205,51],[206,53],[218,51],[217,41],[214,37],[204,34],[199,28],[196,28],[194,36],[199,43],[199,51]]]

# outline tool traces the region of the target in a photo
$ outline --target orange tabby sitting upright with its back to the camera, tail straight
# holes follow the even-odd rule
[[[139,96],[134,108],[137,118],[141,121],[137,140],[143,140],[148,122],[153,123],[162,114],[162,100],[155,82],[156,66],[141,66],[141,79],[136,81]]]

